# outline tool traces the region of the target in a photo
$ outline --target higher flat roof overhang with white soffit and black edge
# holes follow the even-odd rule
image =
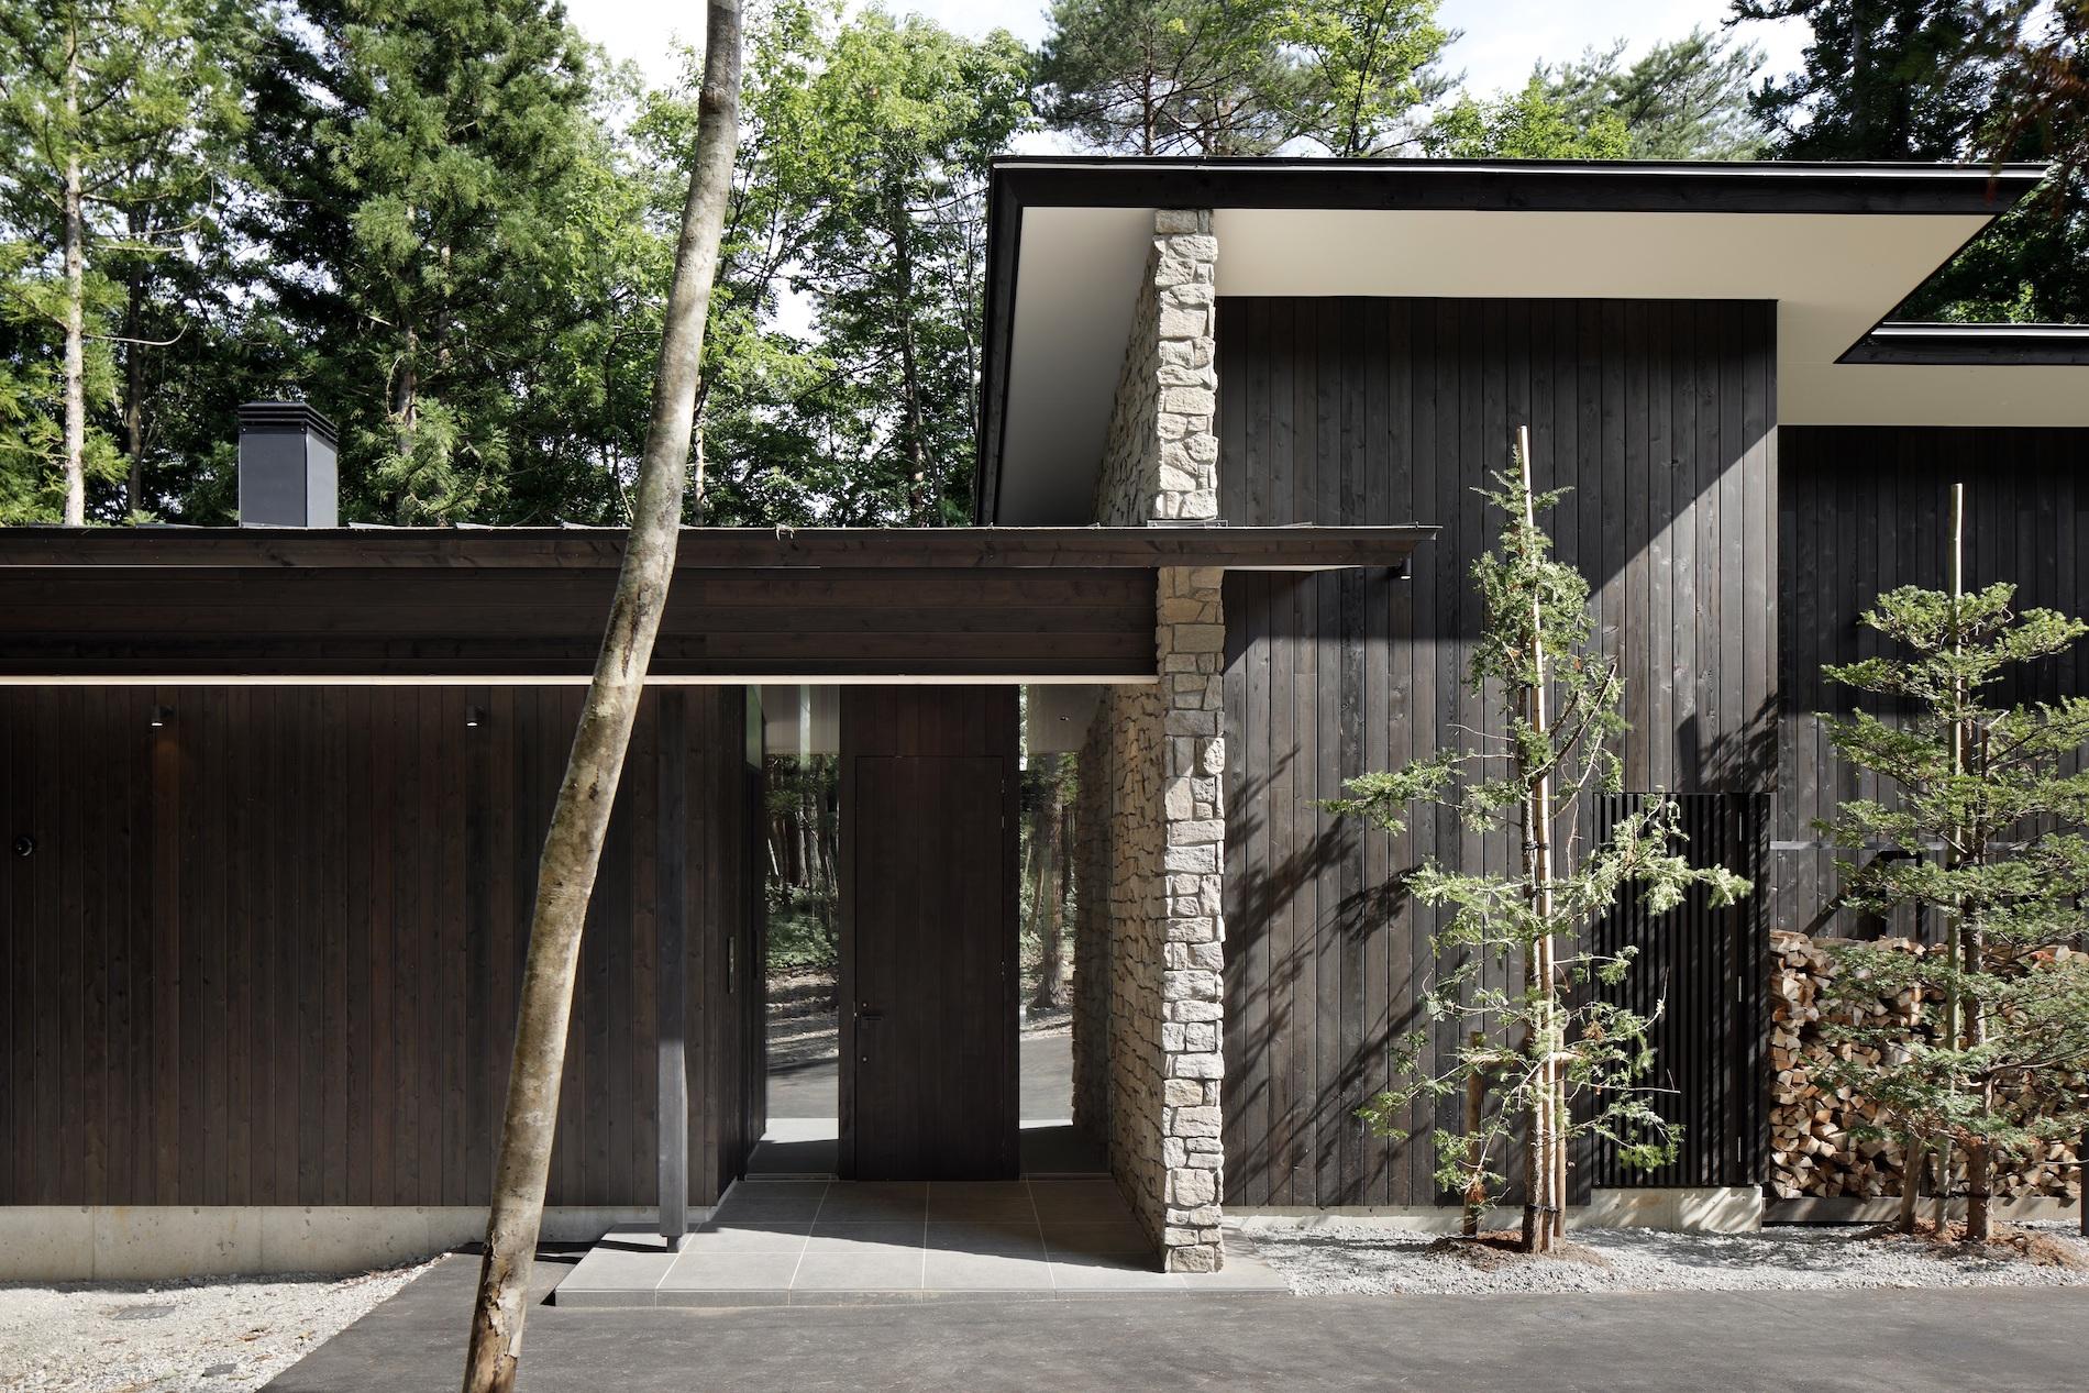
[[[988,230],[982,520],[1080,522],[1159,207],[1210,207],[1218,294],[1778,303],[1780,420],[2089,424],[2062,370],[1842,361],[2039,165],[1005,159]],[[2031,376],[2024,376],[2031,374]]]

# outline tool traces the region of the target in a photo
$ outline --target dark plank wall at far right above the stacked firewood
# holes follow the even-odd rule
[[[1784,426],[1778,516],[1786,693],[1771,812],[1774,923],[1803,927],[1836,892],[1834,854],[1813,819],[1847,798],[1886,794],[1838,764],[1813,712],[1849,712],[1822,664],[1884,654],[1857,624],[1899,585],[1949,585],[1951,485],[1966,482],[1966,581],[2016,585],[2016,604],[2089,612],[2089,430],[1941,426]],[[1997,687],[2049,702],[2089,691],[2089,645]],[[1882,708],[1874,708],[1882,710]],[[1838,917],[1832,931],[1863,931]],[[1897,925],[1920,929],[1914,921]]]

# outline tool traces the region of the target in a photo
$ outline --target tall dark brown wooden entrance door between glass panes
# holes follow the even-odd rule
[[[852,695],[840,1167],[856,1180],[1013,1178],[1015,691],[871,689],[854,718]]]

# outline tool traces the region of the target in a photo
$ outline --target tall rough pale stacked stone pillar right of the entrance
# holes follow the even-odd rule
[[[1218,518],[1216,265],[1210,211],[1155,213],[1109,420],[1099,522]],[[1107,752],[1109,769],[1109,869],[1099,877],[1107,896],[1097,896],[1093,927],[1084,925],[1109,942],[1109,1161],[1170,1272],[1212,1272],[1222,1261],[1220,583],[1222,572],[1207,568],[1159,572],[1159,685],[1113,687],[1088,741]]]

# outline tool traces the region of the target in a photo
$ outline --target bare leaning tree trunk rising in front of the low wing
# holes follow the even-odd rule
[[[572,977],[581,952],[587,900],[602,863],[602,842],[616,802],[616,783],[631,743],[646,668],[652,662],[660,608],[675,574],[683,491],[689,478],[689,436],[704,349],[704,320],[719,265],[719,238],[740,142],[740,0],[710,0],[704,25],[702,123],[696,167],[681,211],[675,284],[660,340],[652,424],[639,464],[631,539],[610,601],[595,677],[581,727],[566,758],[566,777],[551,808],[551,827],[537,863],[537,906],[531,915],[529,961],[516,1017],[508,1109],[501,1119],[487,1255],[472,1309],[464,1393],[506,1393],[522,1355],[522,1314],[531,1261],[543,1222],[543,1190],[558,1124],[558,1084],[566,1061]]]

